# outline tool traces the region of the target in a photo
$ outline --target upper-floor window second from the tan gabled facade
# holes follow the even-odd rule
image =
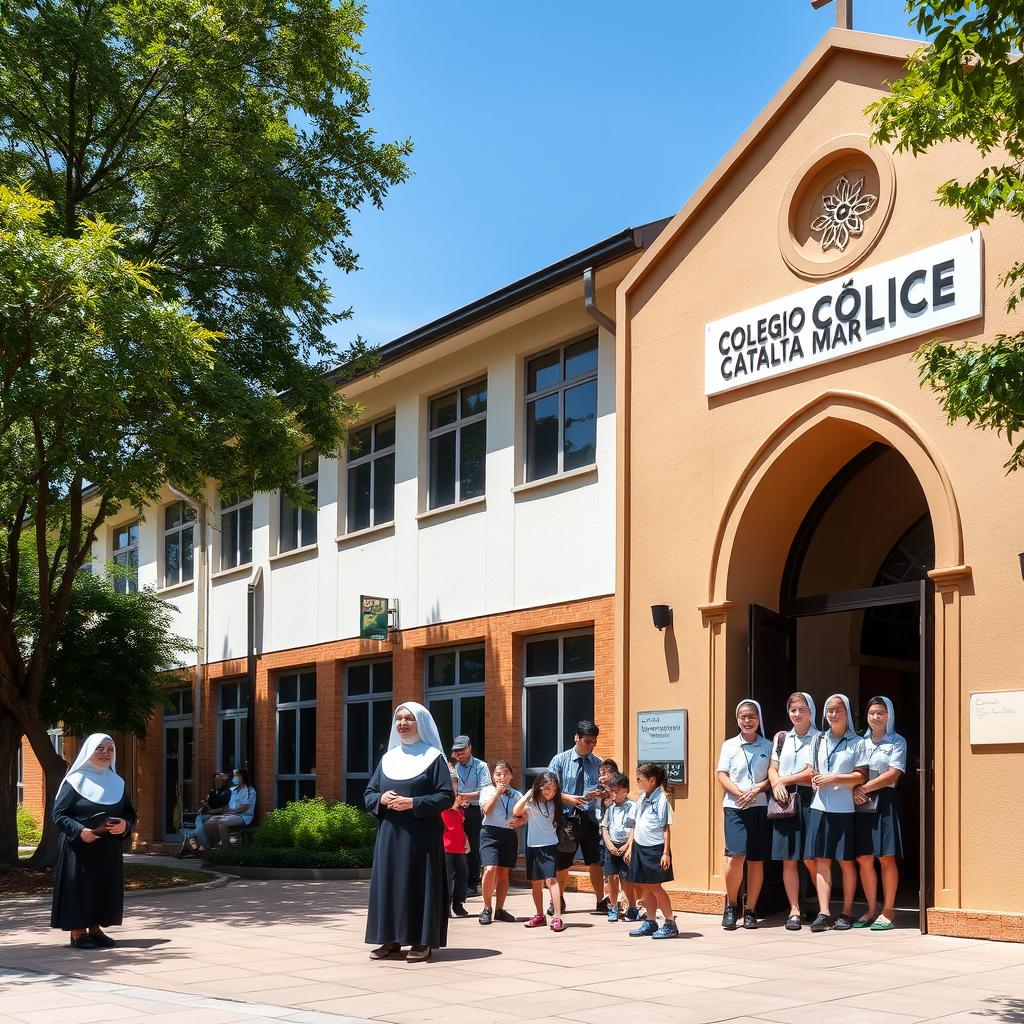
[[[487,382],[430,399],[430,508],[483,494]]]

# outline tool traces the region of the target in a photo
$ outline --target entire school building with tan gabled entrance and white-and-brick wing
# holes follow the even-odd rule
[[[264,809],[357,799],[402,699],[524,778],[594,717],[625,767],[676,764],[674,902],[720,912],[737,700],[778,729],[792,690],[861,717],[883,693],[910,749],[899,905],[1024,941],[1024,481],[911,357],[1016,331],[1021,236],[936,202],[969,144],[868,144],[913,47],[830,31],[671,221],[385,346],[345,388],[357,446],[296,468],[315,514],[211,484],[109,524],[97,567],[137,565],[200,648],[128,755],[140,846],[216,765],[252,764]]]

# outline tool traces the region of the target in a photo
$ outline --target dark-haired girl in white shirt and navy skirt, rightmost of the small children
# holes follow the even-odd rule
[[[630,935],[649,935],[653,939],[674,939],[679,935],[672,915],[672,902],[664,883],[671,882],[672,807],[663,786],[666,771],[660,765],[643,764],[637,768],[637,785],[640,799],[634,804],[635,821],[623,859],[629,865],[627,878],[638,889],[647,908],[647,920],[639,928],[630,929]],[[664,922],[657,927],[655,911],[660,910]]]

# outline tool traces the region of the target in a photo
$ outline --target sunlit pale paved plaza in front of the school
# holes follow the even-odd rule
[[[73,951],[48,906],[0,905],[0,1020],[89,1024],[871,1024],[1024,1022],[1024,945],[912,927],[811,935],[781,920],[725,933],[679,914],[681,938],[630,939],[570,893],[565,932],[453,921],[425,965],[371,963],[366,882],[232,881],[126,900],[112,950]],[[469,906],[478,909],[479,900]],[[509,906],[525,920],[516,891]]]

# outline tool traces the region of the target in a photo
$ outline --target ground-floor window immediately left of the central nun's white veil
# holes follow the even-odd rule
[[[345,803],[362,807],[362,794],[391,735],[391,660],[345,669]]]

